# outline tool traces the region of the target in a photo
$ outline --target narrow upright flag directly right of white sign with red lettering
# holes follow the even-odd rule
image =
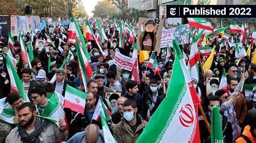
[[[136,59],[134,62],[134,66],[132,67],[132,80],[137,81],[138,84],[140,84],[137,43],[133,44],[132,59]]]

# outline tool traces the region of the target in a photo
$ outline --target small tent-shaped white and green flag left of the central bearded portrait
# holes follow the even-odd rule
[[[99,96],[99,101],[96,105],[95,111],[92,116],[92,120],[100,121],[100,112],[102,112],[105,120],[111,120],[111,112],[107,109],[106,105],[103,103],[102,97]]]

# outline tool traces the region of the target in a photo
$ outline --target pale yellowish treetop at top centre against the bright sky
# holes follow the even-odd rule
[[[110,13],[116,13],[116,6],[111,4],[107,0],[103,0],[102,2],[98,2],[94,10],[92,11],[93,17],[101,17],[101,18],[106,18]]]

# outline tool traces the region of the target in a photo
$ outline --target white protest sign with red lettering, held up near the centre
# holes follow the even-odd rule
[[[116,56],[114,57],[114,65],[116,65],[117,67],[121,67],[122,69],[125,69],[125,70],[132,71],[134,62],[135,62],[135,59],[125,56],[119,52],[116,52]]]

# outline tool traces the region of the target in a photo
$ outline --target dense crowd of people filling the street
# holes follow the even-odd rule
[[[90,23],[93,32],[96,33],[96,26],[92,19]],[[38,31],[32,37],[32,33],[29,32],[23,35],[25,42],[33,41],[33,51],[27,49],[28,52],[33,52],[34,56],[31,61],[31,68],[28,68],[28,63],[24,63],[22,60],[21,43],[18,37],[13,37],[15,50],[12,51],[12,56],[17,60],[15,68],[30,102],[23,101],[21,94],[11,92],[11,80],[4,54],[8,52],[8,41],[3,40],[1,42],[0,101],[1,104],[4,104],[4,108],[0,115],[0,142],[55,142],[56,140],[104,142],[102,124],[93,119],[93,113],[100,97],[111,112],[112,120],[109,127],[113,137],[117,142],[136,142],[147,121],[168,96],[166,95],[168,88],[175,84],[170,83],[170,81],[165,82],[164,79],[177,78],[178,80],[179,78],[172,77],[175,55],[172,52],[170,58],[166,60],[167,56],[163,52],[167,51],[166,48],[156,52],[151,51],[148,57],[151,54],[156,56],[158,67],[161,69],[160,73],[155,74],[155,71],[148,67],[149,59],[144,59],[138,62],[139,81],[134,81],[131,71],[124,70],[114,64],[117,51],[130,58],[133,57],[134,47],[129,42],[129,33],[125,34],[124,48],[120,48],[118,31],[112,25],[112,20],[107,20],[105,25],[103,24],[105,34],[109,39],[101,45],[104,54],[100,52],[95,41],[87,40],[87,51],[90,54],[90,66],[93,71],[92,78],[87,82],[87,85],[81,83],[76,45],[66,44],[69,25],[46,25],[41,32]],[[133,23],[129,23],[129,25],[138,29]],[[176,27],[176,25],[166,25],[165,27]],[[83,27],[80,27],[80,30],[83,31]],[[256,142],[256,111],[252,109],[253,103],[246,101],[245,91],[240,91],[242,75],[245,75],[245,84],[256,83],[256,63],[252,63],[252,54],[242,59],[235,58],[235,47],[231,44],[232,42],[235,43],[236,40],[239,41],[239,38],[234,34],[230,34],[230,36],[230,39],[226,41],[227,45],[220,45],[218,39],[221,38],[221,35],[211,40],[207,46],[215,46],[217,51],[211,69],[202,72],[201,66],[204,65],[208,56],[201,56],[199,81],[195,79],[192,81],[201,98],[208,124],[211,125],[212,107],[215,104],[219,105],[221,126],[226,142]],[[46,41],[48,37],[55,43],[55,46],[48,45],[48,47],[35,48],[37,39]],[[59,38],[63,41],[60,41]],[[88,45],[88,42],[91,42],[91,45]],[[251,48],[251,53],[253,53],[255,45],[249,46],[250,44],[253,45],[248,38],[242,46],[246,50]],[[180,45],[180,48],[189,58],[191,44]],[[66,64],[64,60],[69,52],[72,53],[73,60]],[[48,62],[49,56],[50,63]],[[138,59],[140,59],[139,56],[138,54]],[[63,63],[65,68],[60,68]],[[214,88],[213,84],[219,86],[224,69],[228,89],[223,90],[217,87],[210,94],[207,94],[206,78],[218,77],[219,80],[212,82],[211,86],[212,88]],[[56,81],[50,83],[55,75]],[[42,77],[45,77],[43,81]],[[80,91],[86,91],[84,114],[71,111],[63,106],[66,85]],[[110,92],[112,94],[107,95]],[[42,116],[46,112],[45,110],[49,110],[50,98],[53,94],[65,111],[65,118],[59,118],[56,123],[52,123],[48,118]],[[4,111],[12,113],[11,121],[5,120]],[[207,130],[205,118],[201,114],[199,112],[200,116],[198,117],[200,140],[207,142],[210,133]],[[178,129],[173,128],[173,130]]]

